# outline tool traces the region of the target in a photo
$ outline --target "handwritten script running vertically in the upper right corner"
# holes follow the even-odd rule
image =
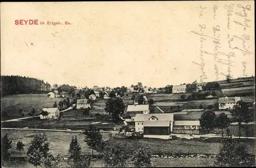
[[[248,58],[254,59],[250,48],[254,32],[253,6],[237,1],[201,4],[198,8],[198,29],[191,33],[200,46],[197,50],[200,60],[192,61],[200,66],[200,82],[213,74],[215,81],[226,76],[247,77]]]

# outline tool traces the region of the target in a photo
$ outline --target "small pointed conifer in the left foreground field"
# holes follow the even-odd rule
[[[81,146],[77,140],[77,136],[72,136],[70,145],[69,145],[69,155],[70,159],[78,161],[81,157]]]

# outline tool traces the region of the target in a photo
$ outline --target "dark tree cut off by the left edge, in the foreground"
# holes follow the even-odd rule
[[[6,161],[10,159],[10,149],[12,140],[9,138],[8,134],[5,134],[4,137],[1,138],[1,148],[2,148],[2,160]]]

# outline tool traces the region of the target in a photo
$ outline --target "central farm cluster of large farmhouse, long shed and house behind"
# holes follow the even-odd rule
[[[200,121],[174,121],[174,113],[151,113],[148,104],[128,105],[125,122],[143,137],[169,139],[172,134],[200,134]]]

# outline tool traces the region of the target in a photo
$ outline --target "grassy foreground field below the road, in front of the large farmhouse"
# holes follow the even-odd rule
[[[127,149],[149,148],[153,154],[218,154],[222,146],[221,142],[206,142],[199,140],[162,140],[162,139],[111,139],[108,146],[120,143]],[[248,153],[255,153],[255,141],[240,142]]]

